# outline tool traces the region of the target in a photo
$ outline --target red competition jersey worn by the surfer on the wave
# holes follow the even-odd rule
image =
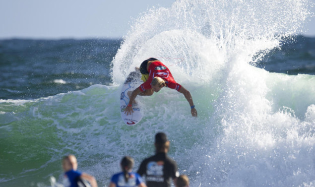
[[[172,89],[176,89],[177,91],[180,91],[182,85],[177,83],[169,68],[167,68],[162,62],[155,61],[152,62],[149,66],[149,78],[147,81],[142,83],[139,88],[141,92],[144,92],[145,90],[151,89],[151,82],[154,77],[161,77],[165,80],[166,86]]]

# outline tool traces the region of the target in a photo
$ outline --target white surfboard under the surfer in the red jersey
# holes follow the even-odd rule
[[[121,116],[126,125],[133,126],[136,125],[137,123],[140,122],[142,119],[143,115],[140,111],[140,106],[136,102],[135,104],[132,104],[132,109],[133,113],[131,115],[129,114],[128,116],[125,114],[125,109],[126,106],[129,103],[129,96],[128,92],[133,91],[137,87],[140,86],[142,83],[141,80],[141,73],[140,71],[132,71],[129,73],[127,76],[125,83],[122,87],[122,92],[121,92]]]

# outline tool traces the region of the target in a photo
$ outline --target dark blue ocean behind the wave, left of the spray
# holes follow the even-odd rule
[[[35,99],[111,85],[111,61],[122,40],[0,41],[0,99]]]

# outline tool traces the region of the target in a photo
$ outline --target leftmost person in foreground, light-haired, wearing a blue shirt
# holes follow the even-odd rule
[[[77,171],[78,163],[74,155],[63,157],[64,187],[78,187],[78,184],[84,184],[83,180],[88,181],[92,187],[97,187],[96,180],[93,176]]]

